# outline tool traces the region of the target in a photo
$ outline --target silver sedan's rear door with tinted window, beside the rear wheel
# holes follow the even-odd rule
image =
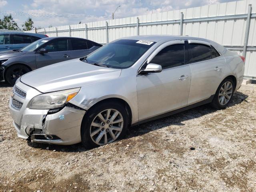
[[[208,42],[188,40],[191,86],[188,104],[213,96],[224,78],[225,58]]]

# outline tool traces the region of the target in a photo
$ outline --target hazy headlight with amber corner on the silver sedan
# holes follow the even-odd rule
[[[30,109],[56,109],[63,107],[69,102],[80,88],[68,89],[63,91],[50,92],[35,96],[29,103]]]

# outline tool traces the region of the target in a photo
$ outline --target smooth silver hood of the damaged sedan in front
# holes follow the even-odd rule
[[[80,59],[73,59],[29,72],[23,75],[20,81],[46,93],[118,78],[121,71],[121,69],[95,66]]]

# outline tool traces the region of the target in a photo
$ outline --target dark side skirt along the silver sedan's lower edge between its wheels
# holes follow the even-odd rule
[[[146,122],[149,122],[149,121],[153,121],[153,120],[156,120],[156,119],[164,118],[164,117],[167,117],[167,116],[170,116],[170,115],[174,115],[174,114],[182,112],[182,111],[186,111],[188,109],[192,109],[192,108],[204,105],[204,104],[208,104],[208,103],[212,102],[213,98],[214,98],[214,95],[212,95],[208,99],[200,101],[198,103],[194,103],[192,105],[189,105],[189,106],[186,106],[186,107],[183,107],[183,108],[180,108],[180,109],[176,109],[174,111],[170,111],[170,112],[158,115],[158,116],[154,116],[152,118],[148,118],[148,119],[145,119],[145,120],[142,120],[142,121],[138,121],[138,122],[132,124],[132,126],[136,126],[136,125],[139,125],[139,124],[142,124],[142,123],[146,123]]]

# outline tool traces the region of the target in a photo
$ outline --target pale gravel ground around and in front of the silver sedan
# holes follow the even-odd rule
[[[200,106],[92,150],[19,139],[0,82],[0,191],[256,191],[256,84],[225,110]]]

